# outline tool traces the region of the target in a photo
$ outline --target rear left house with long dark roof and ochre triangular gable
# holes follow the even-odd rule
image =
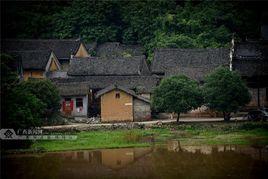
[[[90,47],[90,49],[88,49]],[[33,51],[52,51],[61,69],[58,76],[66,76],[70,59],[73,57],[89,57],[95,46],[84,44],[80,39],[4,39],[1,40],[1,52],[14,54],[16,52],[33,53]],[[29,52],[28,52],[29,51]],[[37,52],[35,52],[37,53]],[[23,58],[22,58],[23,60]],[[23,60],[25,61],[25,60]],[[32,59],[34,63],[34,59]],[[22,66],[22,68],[24,68]],[[24,75],[24,74],[23,74]],[[28,73],[25,73],[27,79]],[[37,75],[40,76],[40,73]],[[34,76],[33,76],[34,77]]]

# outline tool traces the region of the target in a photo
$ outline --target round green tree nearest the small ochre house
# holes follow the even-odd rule
[[[198,83],[190,78],[172,76],[163,79],[153,92],[152,104],[158,111],[180,113],[199,107],[203,102]]]

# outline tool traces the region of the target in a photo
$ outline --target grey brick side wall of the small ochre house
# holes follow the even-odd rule
[[[146,121],[151,119],[151,106],[140,99],[134,98],[134,121]]]

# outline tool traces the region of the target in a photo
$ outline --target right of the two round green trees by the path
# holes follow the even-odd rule
[[[207,106],[222,112],[225,121],[230,120],[231,112],[236,112],[251,98],[239,74],[224,67],[216,69],[205,78],[203,91]]]

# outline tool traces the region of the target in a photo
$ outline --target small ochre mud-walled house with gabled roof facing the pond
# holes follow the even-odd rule
[[[133,122],[151,118],[150,100],[132,90],[111,85],[98,91],[96,98],[101,98],[101,122]]]

